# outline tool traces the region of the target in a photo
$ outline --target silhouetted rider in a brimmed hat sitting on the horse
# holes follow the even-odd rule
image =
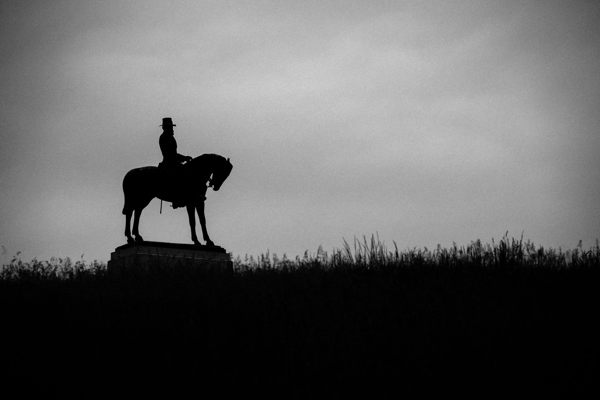
[[[173,124],[170,118],[163,118],[163,125],[160,126],[163,127],[163,133],[160,139],[158,139],[158,145],[160,146],[160,151],[163,153],[163,161],[158,164],[158,168],[163,170],[167,181],[173,184],[173,195],[175,196],[173,208],[184,207],[185,179],[183,178],[186,170],[182,163],[192,160],[192,157],[178,154],[177,142],[175,136],[173,136],[173,127],[177,125]]]

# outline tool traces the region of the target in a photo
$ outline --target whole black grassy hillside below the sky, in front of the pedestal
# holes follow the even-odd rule
[[[11,261],[2,387],[72,396],[595,391],[598,243],[236,260],[231,276],[113,279]]]

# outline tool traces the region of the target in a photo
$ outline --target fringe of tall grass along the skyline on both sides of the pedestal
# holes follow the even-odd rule
[[[576,269],[600,266],[600,242],[589,250],[583,249],[581,240],[575,249],[545,249],[527,240],[523,242],[523,236],[519,240],[508,237],[508,231],[500,239],[492,244],[482,244],[481,240],[475,240],[467,246],[458,247],[453,243],[451,248],[437,248],[430,250],[427,247],[421,249],[413,248],[399,250],[396,242],[393,250],[388,249],[379,235],[371,235],[368,240],[366,236],[362,240],[354,238],[353,246],[343,239],[342,248],[334,249],[331,254],[323,251],[319,246],[316,252],[308,250],[300,257],[297,255],[293,260],[284,254],[279,258],[277,254],[269,251],[260,254],[256,258],[252,255],[242,260],[239,255],[233,260],[233,270],[236,273],[248,273],[256,270],[291,271],[305,269],[307,267],[319,269],[398,269],[407,267],[441,267],[445,269],[470,268],[544,268],[544,269]],[[22,261],[20,252],[4,264],[0,270],[2,281],[22,280],[53,280],[53,279],[82,279],[93,276],[106,275],[106,263],[94,260],[86,264],[83,260],[73,262],[71,258],[50,258],[50,261],[39,261],[34,259],[29,262]]]

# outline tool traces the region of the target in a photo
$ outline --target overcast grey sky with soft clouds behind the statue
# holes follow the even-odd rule
[[[598,2],[2,0],[0,20],[6,257],[108,260],[163,117],[179,153],[230,158],[206,219],[242,258],[600,237]],[[143,237],[191,243],[159,208]]]

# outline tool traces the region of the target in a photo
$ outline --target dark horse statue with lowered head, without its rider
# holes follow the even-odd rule
[[[184,174],[179,176],[179,179],[173,179],[172,176],[169,176],[158,167],[141,167],[128,172],[123,178],[123,193],[125,194],[123,214],[125,215],[127,243],[144,240],[138,231],[140,214],[154,197],[158,197],[158,199],[164,201],[185,204],[190,219],[191,240],[195,245],[200,245],[196,236],[196,215],[194,212],[196,210],[202,226],[202,237],[206,241],[206,245],[214,246],[215,244],[208,237],[206,231],[206,218],[204,216],[206,190],[209,187],[212,187],[214,191],[219,190],[231,173],[232,168],[229,158],[226,159],[218,154],[203,154],[182,166]],[[208,186],[206,185],[207,182]],[[175,185],[177,188],[175,188]],[[135,239],[133,239],[129,230],[133,212],[135,212],[135,216],[131,233],[136,236]]]

